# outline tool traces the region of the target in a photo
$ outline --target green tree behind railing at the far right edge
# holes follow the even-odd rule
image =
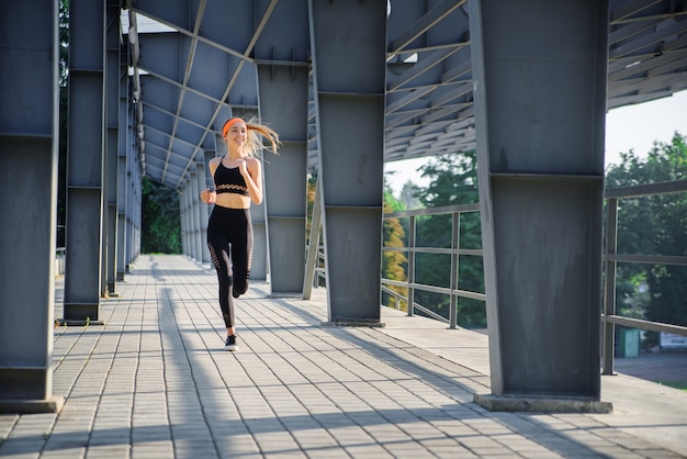
[[[609,167],[608,188],[657,183],[687,178],[686,137],[654,143],[646,158],[633,150]],[[629,198],[619,201],[618,253],[687,255],[687,193]],[[619,264],[617,311],[622,315],[687,325],[687,267]],[[647,288],[646,292],[642,288]],[[650,335],[655,344],[656,335]]]

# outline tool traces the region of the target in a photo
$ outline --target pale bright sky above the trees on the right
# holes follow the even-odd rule
[[[675,131],[687,135],[687,91],[668,98],[621,107],[606,114],[606,167],[620,163],[620,153],[634,149],[640,157],[646,155],[654,141],[669,143]],[[417,172],[427,158],[406,159],[385,165],[386,182],[398,195],[408,180],[424,187],[427,181]],[[391,175],[388,172],[395,171]]]

